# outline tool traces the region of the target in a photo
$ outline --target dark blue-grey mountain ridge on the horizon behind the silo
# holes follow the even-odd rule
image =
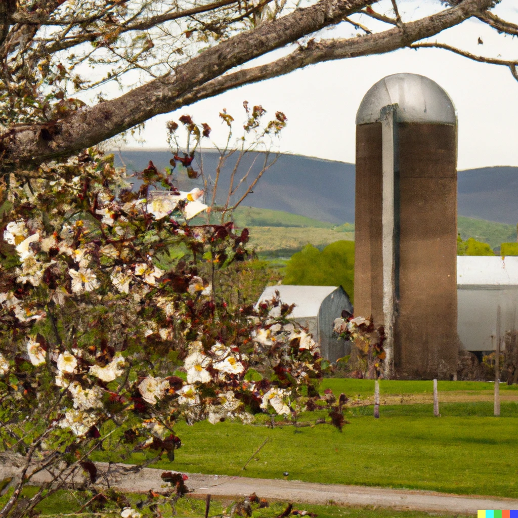
[[[258,156],[257,156],[258,155]],[[241,161],[236,179],[252,166],[249,178],[243,182],[234,199],[241,196],[261,169],[263,154],[251,153]],[[169,151],[122,151],[116,153],[116,163],[128,171],[144,169],[149,160],[163,169],[169,166]],[[218,153],[203,151],[203,166],[207,176],[214,179]],[[121,160],[122,158],[122,160]],[[195,156],[199,169],[200,156]],[[218,188],[218,203],[224,202],[229,177],[237,153],[229,157],[222,169]],[[255,164],[252,162],[255,159]],[[200,179],[189,180],[185,170],[174,171],[181,189],[192,189]],[[515,225],[518,222],[518,167],[484,167],[458,172],[458,215]],[[281,154],[253,189],[247,206],[299,214],[318,221],[341,224],[354,222],[354,164],[315,159],[308,156]],[[468,225],[469,226],[469,225]],[[502,228],[499,232],[505,233]],[[510,232],[510,231],[509,231]]]

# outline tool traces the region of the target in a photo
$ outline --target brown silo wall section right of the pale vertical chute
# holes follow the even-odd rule
[[[398,126],[395,370],[401,378],[450,378],[457,369],[456,127]]]

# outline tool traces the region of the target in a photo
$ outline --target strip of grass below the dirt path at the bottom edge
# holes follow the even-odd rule
[[[37,491],[36,487],[26,487],[23,490],[23,498],[31,498]],[[48,500],[41,502],[36,507],[36,511],[41,515],[60,516],[64,514],[70,515],[78,510],[78,501],[81,503],[87,501],[90,495],[83,495],[79,491],[58,491],[51,495]],[[128,500],[135,504],[142,500],[142,495],[126,494]],[[145,499],[145,498],[144,498]],[[0,498],[0,506],[5,497]],[[235,501],[228,498],[212,497],[210,501],[209,516],[221,516],[225,511],[229,514],[230,509]],[[251,518],[276,518],[287,506],[286,502],[269,502],[267,508],[255,509]],[[79,503],[79,507],[81,504]],[[163,518],[172,518],[172,516],[183,516],[185,518],[200,518],[205,515],[205,498],[184,497],[180,498],[172,510],[168,505],[160,506],[159,509]],[[393,511],[391,509],[372,509],[372,508],[355,508],[355,507],[338,507],[335,505],[316,506],[305,503],[293,506],[293,510],[307,511],[315,513],[319,518],[428,518],[430,515],[426,512],[419,511]],[[83,512],[79,516],[82,518],[108,518],[119,516],[114,506],[108,505],[106,512],[88,513]],[[149,511],[142,510],[142,516],[153,516]],[[156,516],[156,515],[155,515]],[[434,516],[451,516],[448,514],[434,513]]]

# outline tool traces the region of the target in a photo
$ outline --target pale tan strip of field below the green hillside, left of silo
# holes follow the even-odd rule
[[[336,232],[330,228],[250,226],[250,244],[260,255],[290,257],[310,243],[323,248],[343,239],[354,240],[353,232]]]

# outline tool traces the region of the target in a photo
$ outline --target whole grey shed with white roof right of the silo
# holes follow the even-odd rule
[[[518,257],[457,257],[457,332],[464,349],[494,351],[496,313],[503,335],[518,325]]]

